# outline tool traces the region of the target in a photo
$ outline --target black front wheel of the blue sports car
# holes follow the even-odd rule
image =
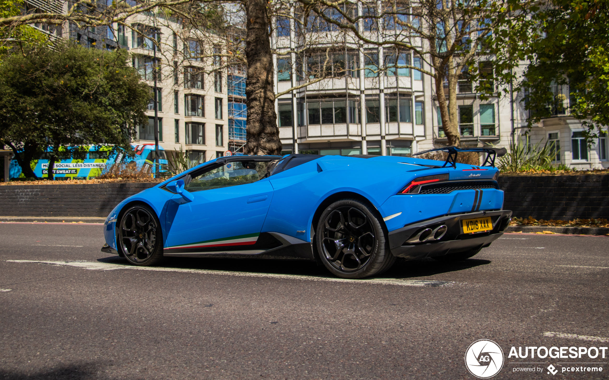
[[[118,246],[132,264],[151,266],[163,259],[161,224],[148,206],[130,207],[118,224]]]

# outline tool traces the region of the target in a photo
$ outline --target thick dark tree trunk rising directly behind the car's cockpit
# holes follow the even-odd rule
[[[281,154],[275,113],[273,59],[270,50],[269,15],[264,0],[247,1],[247,143],[245,154]]]

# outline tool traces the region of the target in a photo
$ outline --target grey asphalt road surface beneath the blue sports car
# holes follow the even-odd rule
[[[609,378],[609,351],[507,358],[609,345],[609,237],[510,233],[461,263],[398,261],[376,282],[285,261],[125,269],[99,251],[101,226],[0,224],[0,241],[0,379],[474,379],[464,355],[478,339],[504,351],[495,378]],[[559,360],[603,371],[514,372]]]

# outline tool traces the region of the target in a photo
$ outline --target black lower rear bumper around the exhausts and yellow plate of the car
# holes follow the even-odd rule
[[[461,229],[462,219],[481,218],[490,216],[493,221],[493,230],[488,232],[464,234]],[[454,252],[477,249],[489,246],[493,241],[503,235],[503,230],[510,223],[510,210],[470,212],[457,215],[440,216],[413,224],[389,233],[389,246],[394,256],[403,258],[425,258],[441,256]],[[444,224],[448,230],[441,240],[429,243],[406,243],[421,230],[441,226]]]

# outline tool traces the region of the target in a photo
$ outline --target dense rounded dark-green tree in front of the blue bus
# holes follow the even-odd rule
[[[149,87],[128,66],[123,49],[106,52],[68,41],[0,65],[0,143],[9,145],[26,176],[30,161],[49,150],[49,178],[65,151],[74,158],[82,145],[113,144],[133,152],[136,126],[147,122]]]

